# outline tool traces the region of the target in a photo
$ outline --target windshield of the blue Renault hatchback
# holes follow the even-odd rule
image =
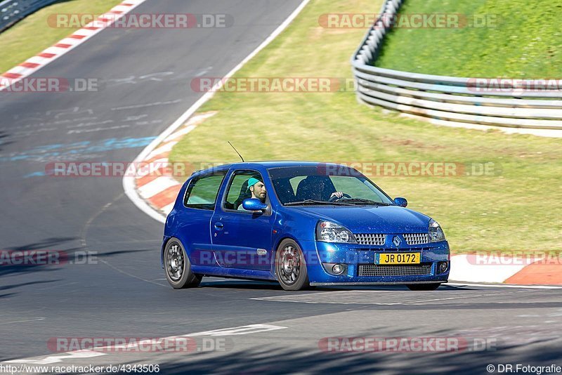
[[[335,164],[277,167],[268,170],[281,204],[394,204],[382,190],[353,168]]]

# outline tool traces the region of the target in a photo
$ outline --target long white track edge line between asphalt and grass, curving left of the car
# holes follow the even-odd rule
[[[238,65],[236,65],[233,68],[233,70],[230,70],[230,72],[228,72],[223,78],[232,77],[233,74],[235,74],[235,72],[240,70],[240,68],[244,66],[244,64],[246,64],[246,62],[248,62],[251,58],[257,55],[259,51],[265,48],[268,44],[270,44],[270,42],[273,41],[273,39],[275,39],[277,35],[281,34],[281,32],[285,28],[287,28],[287,26],[289,26],[289,24],[294,20],[294,18],[296,18],[296,16],[299,15],[299,13],[301,13],[303,8],[306,6],[306,4],[308,4],[309,1],[310,0],[303,0],[301,4],[293,11],[293,13],[291,13],[289,17],[287,17],[287,19],[283,21],[283,23],[279,25],[279,27],[277,27],[277,29],[275,29],[269,35],[269,37],[266,38],[266,40],[264,40],[256,49],[254,49],[254,51],[251,51],[251,53],[247,55],[246,58],[244,58],[244,60],[242,60]],[[187,121],[187,119],[189,119],[189,117],[199,109],[199,107],[201,107],[205,102],[207,102],[207,100],[213,97],[214,91],[218,91],[218,88],[221,88],[221,86],[223,85],[223,81],[225,80],[221,79],[210,91],[205,93],[201,98],[199,98],[195,103],[193,103],[193,105],[189,107],[187,111],[185,111],[178,119],[176,119],[176,121],[174,121],[174,123],[171,124],[168,127],[168,129],[160,133],[160,135],[155,140],[152,140],[152,142],[148,146],[146,146],[145,149],[140,154],[138,154],[133,164],[143,162],[148,156],[148,154],[152,152],[152,150],[158,147],[158,145],[162,143],[163,140],[168,138],[168,136],[171,133],[173,133],[176,129],[182,126],[183,123],[185,123],[185,121]],[[154,218],[155,220],[159,221],[160,223],[164,223],[166,221],[166,218],[163,216],[163,214],[160,211],[153,209],[147,202],[144,201],[144,199],[139,197],[135,188],[134,176],[124,176],[123,190],[125,190],[125,195],[129,197],[129,199],[131,199],[131,201],[138,207],[138,209],[141,209],[141,211],[146,213],[151,218]]]

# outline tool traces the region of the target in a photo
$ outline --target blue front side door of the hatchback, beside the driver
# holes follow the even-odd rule
[[[221,204],[211,219],[211,240],[218,264],[227,268],[270,270],[271,240],[275,215],[266,212],[250,212],[237,209],[242,200],[251,197],[247,188],[249,178],[263,182],[261,173],[251,169],[239,169],[230,173],[228,185],[223,190]],[[269,192],[267,192],[269,193]],[[266,203],[271,207],[268,196]]]

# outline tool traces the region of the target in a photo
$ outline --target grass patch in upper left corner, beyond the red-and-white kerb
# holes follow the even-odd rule
[[[10,29],[0,33],[0,72],[10,70],[76,30],[49,26],[47,22],[49,15],[101,14],[121,2],[121,0],[72,0],[47,6],[27,16]]]

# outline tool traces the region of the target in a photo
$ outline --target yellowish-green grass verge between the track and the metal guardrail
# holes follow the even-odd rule
[[[360,29],[322,29],[322,13],[378,11],[380,1],[313,0],[235,77],[347,77]],[[373,177],[443,225],[453,251],[562,247],[562,140],[435,126],[360,105],[353,91],[216,93],[216,110],[171,152],[173,162],[494,162],[500,176]]]

